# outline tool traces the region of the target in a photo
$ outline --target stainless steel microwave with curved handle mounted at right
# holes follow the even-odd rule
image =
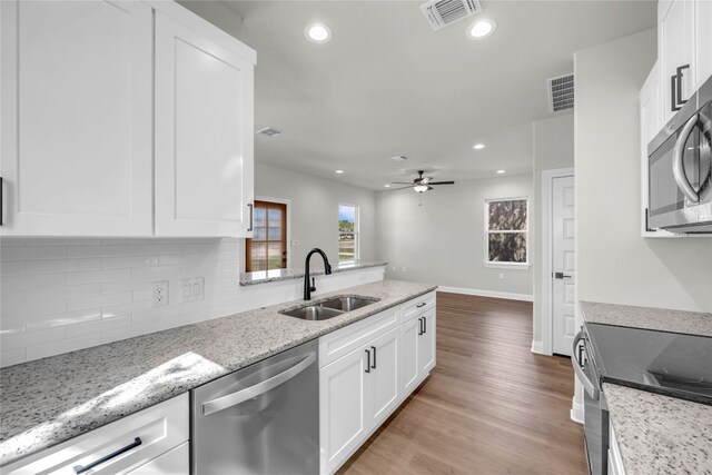
[[[647,228],[712,234],[712,78],[647,146]]]

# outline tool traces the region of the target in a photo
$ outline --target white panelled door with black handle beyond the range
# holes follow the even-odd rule
[[[575,199],[573,169],[542,174],[543,346],[571,356],[575,325]]]

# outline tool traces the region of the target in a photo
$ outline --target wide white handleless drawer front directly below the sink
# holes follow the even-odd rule
[[[393,307],[324,335],[319,338],[319,368],[395,328],[398,323],[398,307]]]

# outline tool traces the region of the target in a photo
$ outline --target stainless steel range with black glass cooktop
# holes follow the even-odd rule
[[[712,405],[710,337],[586,324],[574,338],[572,364],[585,389],[586,454],[594,475],[607,473],[603,383]]]

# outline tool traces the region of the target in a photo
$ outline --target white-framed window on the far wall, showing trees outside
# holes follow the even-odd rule
[[[485,266],[528,267],[528,199],[485,201]]]

